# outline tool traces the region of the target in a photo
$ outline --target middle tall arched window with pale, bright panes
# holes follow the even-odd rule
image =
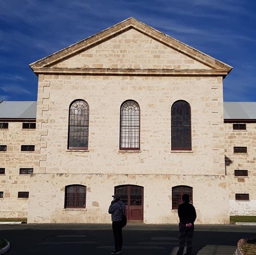
[[[121,105],[120,150],[140,150],[140,107],[133,100]]]

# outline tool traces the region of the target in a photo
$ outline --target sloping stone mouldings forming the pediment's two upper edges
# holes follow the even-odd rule
[[[158,42],[163,43],[164,45],[167,45],[168,47],[171,47],[185,55],[188,55],[189,57],[211,67],[212,69],[225,71],[226,74],[228,74],[232,70],[232,67],[230,65],[227,65],[222,61],[219,61],[213,57],[210,57],[205,53],[202,53],[201,51],[198,51],[197,49],[194,49],[193,47],[186,45],[185,43],[182,43],[166,34],[163,34],[162,32],[159,32],[158,30],[132,17],[110,28],[107,28],[102,32],[99,32],[93,36],[90,36],[80,42],[74,43],[73,45],[70,45],[47,57],[39,59],[38,61],[31,63],[30,67],[35,72],[37,72],[38,68],[50,67],[55,63],[58,63],[68,57],[76,55],[81,51],[84,51],[90,47],[93,47],[94,45],[104,42],[109,38],[112,38],[118,34],[121,34],[131,28],[138,30],[139,32],[145,34],[146,36],[149,36],[154,40],[157,40]]]

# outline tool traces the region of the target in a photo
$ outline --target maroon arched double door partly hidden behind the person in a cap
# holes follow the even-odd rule
[[[143,220],[143,187],[120,185],[115,187],[115,194],[120,195],[126,205],[127,219]]]

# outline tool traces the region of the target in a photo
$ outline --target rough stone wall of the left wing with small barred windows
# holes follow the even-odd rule
[[[22,129],[22,122],[9,122],[9,128],[0,130],[0,144],[7,145],[6,152],[0,152],[0,167],[5,175],[0,175],[1,217],[26,217],[28,199],[18,198],[19,191],[29,190],[29,175],[20,175],[20,168],[34,167],[34,152],[21,152],[21,145],[35,144],[35,130]]]

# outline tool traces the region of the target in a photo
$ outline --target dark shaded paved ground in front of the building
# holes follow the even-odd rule
[[[124,255],[176,255],[176,225],[128,225],[123,233]],[[253,235],[255,226],[196,226],[194,254],[233,255],[238,239]],[[0,237],[11,243],[6,255],[103,255],[113,249],[111,225],[0,225]]]

